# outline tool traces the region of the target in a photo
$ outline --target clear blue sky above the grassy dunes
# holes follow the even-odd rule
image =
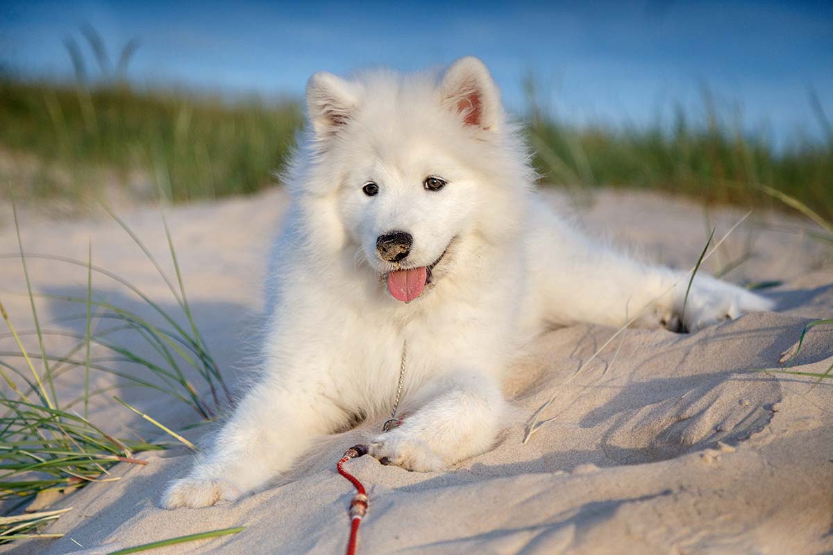
[[[68,77],[62,41],[84,23],[111,52],[141,40],[128,75],[142,85],[300,96],[320,69],[474,54],[511,109],[532,72],[545,106],[579,123],[697,113],[704,85],[776,141],[821,136],[811,89],[833,116],[833,2],[0,2],[0,64]]]

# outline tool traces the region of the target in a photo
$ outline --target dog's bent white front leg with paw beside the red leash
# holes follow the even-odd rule
[[[416,412],[370,445],[382,463],[434,472],[483,453],[494,443],[506,412],[496,380],[475,371],[436,378],[416,393],[415,401]]]

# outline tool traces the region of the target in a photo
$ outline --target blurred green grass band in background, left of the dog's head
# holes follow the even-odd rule
[[[172,201],[259,191],[287,158],[296,102],[0,79],[0,149],[23,198],[83,203],[107,187]],[[15,174],[27,167],[27,175]]]

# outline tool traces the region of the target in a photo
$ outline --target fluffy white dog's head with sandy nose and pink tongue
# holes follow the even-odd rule
[[[358,247],[395,299],[430,289],[462,237],[499,240],[516,225],[530,171],[480,60],[462,58],[440,78],[316,73],[307,111],[302,193],[334,201],[343,245]]]

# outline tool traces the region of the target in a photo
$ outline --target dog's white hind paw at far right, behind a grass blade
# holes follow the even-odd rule
[[[723,320],[734,320],[746,312],[774,307],[772,300],[761,295],[703,276],[691,285],[682,320],[686,330],[694,332]]]

